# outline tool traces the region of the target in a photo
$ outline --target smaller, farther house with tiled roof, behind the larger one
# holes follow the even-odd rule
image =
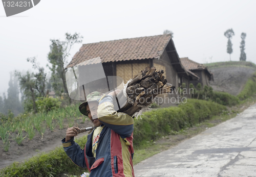
[[[205,85],[209,86],[209,81],[214,80],[214,75],[211,73],[211,71],[204,66],[203,64],[197,63],[195,61],[192,61],[185,58],[180,58],[182,65],[189,71],[195,73],[200,78],[198,81],[191,80],[189,83],[192,83],[195,87],[198,83],[201,83],[202,87]]]

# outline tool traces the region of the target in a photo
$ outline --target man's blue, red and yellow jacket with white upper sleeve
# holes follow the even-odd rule
[[[65,142],[63,148],[70,159],[82,168],[88,168],[91,177],[133,176],[133,118],[114,110],[113,98],[99,99],[98,119],[105,126],[100,133],[96,158],[92,155],[92,136],[88,135],[84,150],[74,142]],[[94,131],[94,130],[93,130]]]

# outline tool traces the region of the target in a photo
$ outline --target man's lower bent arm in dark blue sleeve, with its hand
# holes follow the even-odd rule
[[[69,158],[79,167],[86,168],[84,160],[84,150],[74,141],[79,129],[76,127],[68,128],[66,138],[62,139],[63,149]]]

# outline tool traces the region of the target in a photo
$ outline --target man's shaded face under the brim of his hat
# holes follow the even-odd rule
[[[88,117],[93,122],[95,127],[100,126],[102,123],[98,119],[97,110],[98,110],[98,102],[90,102],[90,108],[87,104],[86,110],[88,113]]]

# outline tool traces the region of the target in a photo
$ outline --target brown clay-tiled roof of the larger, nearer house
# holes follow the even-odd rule
[[[170,35],[158,35],[83,44],[67,68],[100,57],[102,63],[159,58]]]

